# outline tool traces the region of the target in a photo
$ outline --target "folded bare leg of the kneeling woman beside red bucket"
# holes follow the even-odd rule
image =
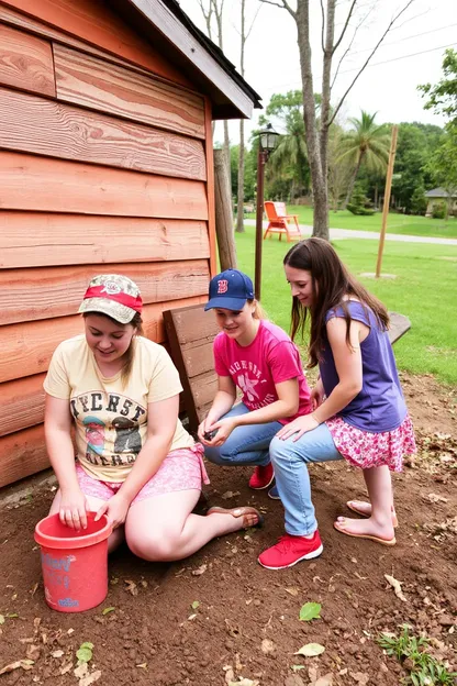
[[[200,490],[180,490],[132,505],[125,522],[131,551],[149,561],[182,560],[215,536],[246,525],[243,517],[219,512],[207,517],[192,514],[199,497]],[[247,525],[255,523],[252,517]]]

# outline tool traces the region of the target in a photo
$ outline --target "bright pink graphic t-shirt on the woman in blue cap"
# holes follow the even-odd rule
[[[293,417],[278,421],[287,424],[311,412],[310,388],[299,350],[280,327],[260,320],[256,338],[246,346],[239,345],[222,331],[214,339],[213,351],[216,374],[232,378],[243,392],[242,401],[249,410],[258,410],[278,400],[276,384],[297,378],[299,410]]]

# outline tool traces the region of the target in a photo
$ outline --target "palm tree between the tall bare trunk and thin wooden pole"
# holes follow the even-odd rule
[[[363,163],[370,172],[383,173],[387,168],[390,137],[384,124],[375,123],[376,115],[377,112],[369,114],[361,110],[360,119],[356,117],[349,119],[353,130],[342,139],[338,159],[346,159],[354,165],[344,208],[350,200]]]

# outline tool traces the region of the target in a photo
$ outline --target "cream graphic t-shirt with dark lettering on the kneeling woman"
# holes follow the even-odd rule
[[[78,461],[101,480],[125,479],[146,441],[147,405],[182,390],[166,350],[143,336],[135,341],[134,364],[124,387],[121,373],[102,376],[83,335],[60,343],[44,381],[47,394],[69,401]],[[193,439],[178,420],[170,451],[192,445]]]

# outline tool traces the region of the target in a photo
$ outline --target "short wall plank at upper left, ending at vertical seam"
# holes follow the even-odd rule
[[[51,43],[0,24],[0,84],[55,97]]]

